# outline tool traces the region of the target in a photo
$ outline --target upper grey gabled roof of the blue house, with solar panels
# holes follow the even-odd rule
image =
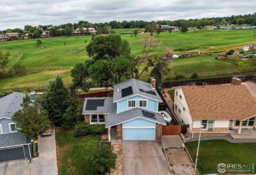
[[[124,90],[127,89],[127,90]],[[125,91],[125,95],[123,94]],[[119,84],[114,85],[114,95],[113,102],[120,101],[122,99],[127,99],[129,97],[133,97],[135,95],[141,95],[143,97],[147,97],[149,99],[154,99],[156,101],[162,101],[158,91],[151,87],[150,83],[142,82],[136,79],[130,79],[125,82],[121,82]]]

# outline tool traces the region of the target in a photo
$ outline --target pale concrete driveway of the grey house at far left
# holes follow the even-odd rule
[[[55,131],[51,136],[39,136],[39,157],[32,163],[24,159],[0,163],[0,175],[57,175]]]

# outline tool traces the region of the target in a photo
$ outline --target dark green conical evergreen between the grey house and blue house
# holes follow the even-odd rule
[[[43,95],[43,108],[49,112],[49,118],[56,125],[62,125],[62,118],[66,109],[70,106],[70,94],[64,86],[62,78],[57,76],[55,80],[46,85]]]

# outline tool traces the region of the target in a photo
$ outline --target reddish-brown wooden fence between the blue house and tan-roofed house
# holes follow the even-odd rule
[[[186,134],[186,129],[189,125],[165,125],[162,127],[162,135],[170,136],[170,135],[181,135]]]

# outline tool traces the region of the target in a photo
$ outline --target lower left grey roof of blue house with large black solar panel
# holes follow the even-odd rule
[[[110,114],[116,110],[112,97],[85,98],[82,114]]]

